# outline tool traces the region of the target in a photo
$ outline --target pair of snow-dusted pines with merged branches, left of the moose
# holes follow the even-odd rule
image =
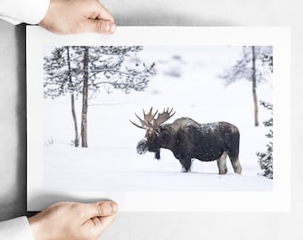
[[[87,147],[88,99],[100,92],[120,89],[143,91],[153,73],[154,64],[126,64],[128,57],[143,50],[143,46],[61,46],[44,59],[45,98],[70,94],[75,126],[75,146],[78,147],[78,124],[75,98],[82,94],[81,142]]]

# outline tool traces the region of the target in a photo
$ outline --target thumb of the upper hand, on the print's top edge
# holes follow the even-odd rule
[[[113,34],[116,31],[116,24],[110,20],[86,19],[83,25],[86,32],[98,34]]]

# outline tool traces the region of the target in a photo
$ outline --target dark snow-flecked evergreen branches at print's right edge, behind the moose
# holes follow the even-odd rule
[[[269,142],[266,144],[265,152],[258,152],[258,164],[261,167],[262,172],[260,175],[265,176],[268,179],[273,179],[273,104],[260,101],[260,104],[271,111],[271,117],[263,122],[263,124],[269,128],[266,133],[266,137]]]

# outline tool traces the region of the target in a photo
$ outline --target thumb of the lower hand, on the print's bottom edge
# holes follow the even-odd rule
[[[93,204],[85,204],[85,220],[95,217],[106,217],[118,211],[118,204],[113,201],[100,201]]]

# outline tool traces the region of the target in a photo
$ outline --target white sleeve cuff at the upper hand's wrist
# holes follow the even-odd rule
[[[47,12],[50,0],[0,0],[0,19],[12,24],[39,23]]]

